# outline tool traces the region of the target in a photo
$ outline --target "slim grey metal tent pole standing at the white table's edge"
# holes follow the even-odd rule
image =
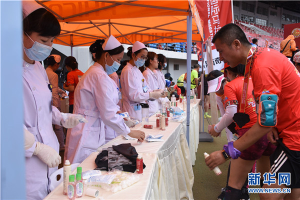
[[[186,16],[186,140],[189,146],[190,68],[191,68],[191,11]]]

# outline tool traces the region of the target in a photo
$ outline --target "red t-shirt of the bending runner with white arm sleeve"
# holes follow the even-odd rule
[[[240,102],[241,102],[241,93],[242,93],[242,85],[243,85],[243,76],[238,76],[234,78],[232,81],[225,84],[224,87],[224,104],[225,108],[228,105],[237,105],[237,112],[239,112]],[[253,85],[252,85],[252,79],[249,78],[248,83],[248,91],[247,91],[247,99],[245,102],[245,113],[249,115],[250,121],[246,123],[241,128],[249,128],[252,127],[254,123],[256,123],[257,120],[257,114],[255,112],[255,101],[253,99],[252,95]],[[238,127],[238,125],[235,126],[235,129],[241,129]]]

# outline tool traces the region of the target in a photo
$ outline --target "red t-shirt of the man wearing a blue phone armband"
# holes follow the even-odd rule
[[[257,101],[262,93],[278,95],[277,129],[282,142],[300,151],[300,74],[278,51],[260,48],[253,54],[251,76]]]

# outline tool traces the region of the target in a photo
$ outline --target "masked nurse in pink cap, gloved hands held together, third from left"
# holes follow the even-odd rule
[[[128,48],[127,55],[130,60],[121,72],[121,87],[123,98],[123,111],[141,121],[141,106],[146,100],[154,100],[164,95],[161,89],[148,88],[145,78],[138,69],[147,59],[148,50],[140,41],[135,41]]]

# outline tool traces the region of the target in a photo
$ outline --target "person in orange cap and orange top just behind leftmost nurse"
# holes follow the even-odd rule
[[[59,67],[60,55],[55,55],[55,54],[49,55],[47,57],[47,61],[48,61],[48,66],[46,68],[46,73],[47,73],[49,82],[52,85],[52,105],[54,105],[55,107],[57,107],[57,109],[59,111],[61,111],[60,110],[60,97],[58,94],[60,94],[61,96],[67,96],[67,94],[58,87],[58,75],[54,72]],[[63,133],[62,126],[56,125],[56,124],[52,124],[52,125],[53,125],[53,130],[55,132],[55,135],[58,139],[59,151],[64,150],[65,136]]]

